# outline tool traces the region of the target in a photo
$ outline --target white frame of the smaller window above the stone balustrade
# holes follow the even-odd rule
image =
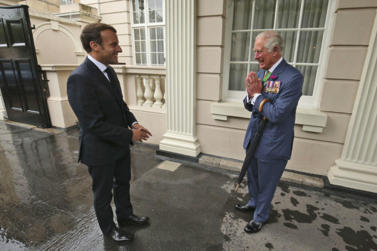
[[[133,2],[130,2],[130,19],[131,19],[131,37],[132,37],[132,57],[134,65],[143,65],[143,66],[165,66],[166,65],[166,15],[165,15],[165,1],[162,1],[162,22],[158,23],[149,23],[149,0],[144,0],[144,23],[133,23]],[[144,28],[145,29],[145,39],[146,39],[146,53],[147,53],[147,63],[146,64],[136,64],[136,53],[135,53],[135,32],[134,29]],[[163,28],[164,32],[164,64],[151,64],[150,58],[150,28]]]

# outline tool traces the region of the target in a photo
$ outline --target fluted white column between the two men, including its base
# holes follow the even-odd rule
[[[195,135],[196,0],[166,0],[167,131],[160,150],[197,156]]]

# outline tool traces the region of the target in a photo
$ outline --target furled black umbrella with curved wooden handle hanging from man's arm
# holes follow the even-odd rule
[[[271,102],[271,101],[268,98],[263,99],[261,104],[259,105],[259,112],[262,112],[263,105],[266,102]],[[261,122],[259,122],[257,132],[254,134],[253,139],[251,139],[250,146],[247,150],[246,157],[245,157],[245,160],[244,160],[244,164],[242,165],[241,173],[239,174],[239,177],[238,177],[238,184],[237,184],[237,187],[236,187],[236,190],[234,191],[234,193],[238,190],[239,184],[241,184],[242,180],[245,177],[247,168],[249,168],[251,159],[254,157],[254,153],[255,153],[257,146],[259,144],[259,140],[261,139],[263,129],[266,125],[266,122],[267,122],[267,119],[265,117],[263,117]]]

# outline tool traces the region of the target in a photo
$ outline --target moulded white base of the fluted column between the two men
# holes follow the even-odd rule
[[[160,150],[188,156],[198,156],[201,152],[198,137],[165,133],[160,141]]]

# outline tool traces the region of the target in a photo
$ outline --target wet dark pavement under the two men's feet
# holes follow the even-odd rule
[[[377,199],[280,183],[261,232],[234,173],[155,157],[135,144],[131,201],[142,226],[125,245],[104,239],[87,167],[77,164],[78,129],[51,133],[0,122],[0,251],[377,250]]]

